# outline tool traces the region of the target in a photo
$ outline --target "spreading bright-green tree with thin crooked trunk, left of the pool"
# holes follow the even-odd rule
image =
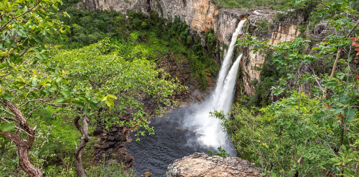
[[[104,39],[81,49],[66,51],[55,48],[52,51],[50,60],[53,65],[48,67],[59,67],[59,70],[67,72],[66,80],[69,81],[67,92],[64,91],[65,94],[56,101],[71,102],[75,107],[68,109],[75,108],[78,113],[74,123],[82,134],[75,152],[79,176],[86,176],[81,154],[90,139],[87,119],[100,118],[107,129],[112,125],[125,125],[133,127],[136,136],[145,135],[145,131],[151,135],[153,127],[148,125],[151,110],[145,110],[141,100],[154,100],[151,104],[155,105],[157,113],[164,114],[164,106],[177,105],[170,98],[172,93],[185,89],[174,79],[166,80],[170,76],[163,70],[155,70],[155,63],[135,57],[136,53],[143,52],[139,47],[125,57],[121,57],[117,48]]]

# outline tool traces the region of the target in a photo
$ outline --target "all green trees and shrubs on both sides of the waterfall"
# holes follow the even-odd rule
[[[268,45],[251,34],[238,41],[238,48],[266,53],[256,68],[260,80],[251,81],[254,95],[236,100],[231,113],[212,113],[223,121],[239,157],[265,176],[359,176],[358,2],[215,2],[275,9],[275,20],[295,18],[298,11],[308,17],[293,41]],[[151,113],[165,114],[166,106],[177,105],[172,93],[186,90],[156,67],[161,55],[188,61],[202,90],[208,86],[205,69],[219,70],[213,30],[200,38],[179,18],[163,19],[154,10],[123,15],[79,9],[78,3],[0,2],[2,176],[131,176],[123,164],[89,162],[94,124],[154,133],[138,98],[153,100]],[[328,28],[327,37],[306,35],[318,24]],[[271,28],[268,21],[256,25],[257,31]]]

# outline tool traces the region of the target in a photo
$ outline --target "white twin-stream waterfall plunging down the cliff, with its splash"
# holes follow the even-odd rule
[[[195,126],[196,131],[200,133],[200,142],[214,148],[222,146],[228,153],[235,156],[233,144],[226,137],[226,132],[222,131],[221,121],[210,116],[210,111],[223,110],[225,113],[230,110],[230,105],[233,101],[234,86],[238,74],[239,62],[241,61],[242,54],[238,56],[232,67],[232,56],[234,52],[234,45],[237,42],[239,34],[243,33],[243,25],[246,19],[241,20],[237,29],[233,33],[232,40],[229,44],[227,54],[225,55],[222,67],[219,71],[215,91],[211,98],[206,100],[197,109],[196,113],[188,116],[190,120],[186,120],[187,126]],[[198,106],[198,105],[197,105]]]

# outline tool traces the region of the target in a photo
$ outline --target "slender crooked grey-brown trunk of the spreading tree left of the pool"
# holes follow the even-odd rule
[[[80,114],[82,114],[82,108],[80,111]],[[81,125],[79,124],[79,119],[81,117],[81,122],[83,124],[83,127],[81,127]],[[88,137],[88,125],[87,125],[87,115],[85,116],[76,116],[75,118],[75,125],[76,128],[81,132],[81,143],[79,145],[79,147],[76,149],[74,156],[76,159],[75,165],[76,165],[76,172],[80,177],[86,177],[85,171],[84,171],[84,167],[82,166],[82,152],[86,146],[86,143],[89,142],[90,138]]]

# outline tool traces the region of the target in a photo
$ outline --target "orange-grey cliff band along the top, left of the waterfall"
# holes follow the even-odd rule
[[[249,13],[218,9],[211,0],[84,0],[87,10],[114,9],[123,14],[127,10],[157,11],[163,18],[174,19],[178,16],[185,21],[192,32],[201,36],[208,29],[214,29],[219,41],[229,44],[239,19],[247,18]]]

